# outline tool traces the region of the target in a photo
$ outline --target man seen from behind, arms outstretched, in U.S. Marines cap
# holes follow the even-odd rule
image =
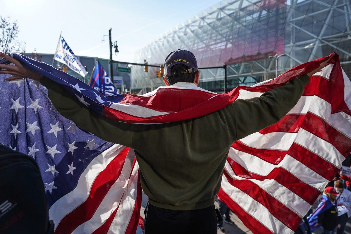
[[[99,115],[59,83],[29,71],[11,56],[3,53],[0,56],[15,64],[0,64],[0,68],[5,69],[0,73],[13,75],[7,81],[19,78],[40,81],[48,89],[48,96],[61,115],[100,139],[134,149],[141,186],[149,198],[144,222],[144,233],[147,234],[217,233],[221,216],[214,208],[214,196],[220,189],[223,168],[233,142],[282,119],[300,99],[309,77],[329,64],[329,60],[322,62],[312,72],[260,97],[238,99],[204,116],[143,125]],[[164,71],[166,86],[179,90],[203,90],[197,87],[198,65],[190,51],[178,49],[171,52],[165,59]],[[186,105],[193,97],[179,91],[164,105],[174,105],[172,98]]]

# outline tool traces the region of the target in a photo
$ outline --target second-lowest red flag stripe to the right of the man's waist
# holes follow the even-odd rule
[[[252,199],[261,203],[264,207],[267,208],[267,210],[269,210],[272,216],[276,217],[280,222],[284,223],[284,225],[292,230],[295,230],[297,228],[297,225],[300,223],[301,218],[272,195],[267,193],[265,190],[250,180],[235,180],[231,178],[225,171],[224,175],[232,186],[237,187],[249,195]]]

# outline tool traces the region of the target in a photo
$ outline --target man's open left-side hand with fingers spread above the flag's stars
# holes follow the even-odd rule
[[[11,77],[5,79],[6,81],[11,81],[11,80],[16,80],[16,79],[21,79],[21,78],[30,78],[33,80],[39,80],[40,79],[40,74],[36,72],[29,71],[27,68],[22,66],[22,64],[12,58],[11,56],[1,53],[0,56],[7,59],[8,61],[12,62],[14,65],[5,65],[5,64],[0,64],[0,68],[2,69],[0,71],[1,74],[9,74],[12,75]]]

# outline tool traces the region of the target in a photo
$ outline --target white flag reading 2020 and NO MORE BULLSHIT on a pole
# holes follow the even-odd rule
[[[60,34],[60,39],[59,43],[57,44],[54,60],[67,65],[67,67],[71,68],[73,71],[77,72],[83,77],[88,74],[88,72],[78,60],[77,56],[75,56],[73,53],[72,49],[69,48],[67,42],[62,37],[62,34]]]

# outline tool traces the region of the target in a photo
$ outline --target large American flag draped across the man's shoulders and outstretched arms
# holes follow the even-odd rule
[[[281,121],[238,140],[229,151],[219,196],[253,233],[292,233],[351,151],[351,83],[335,53],[226,94],[160,87],[142,97],[104,97],[45,63],[12,56],[60,83],[94,111],[144,124],[196,118],[238,98],[260,96],[332,57],[332,64],[311,77],[298,104]],[[4,99],[0,111],[5,117],[0,141],[33,156],[42,168],[55,232],[135,232],[141,190],[132,149],[76,128],[55,112],[38,82],[6,83],[4,75],[0,82]],[[179,91],[187,100],[193,97],[192,102],[164,104]]]

